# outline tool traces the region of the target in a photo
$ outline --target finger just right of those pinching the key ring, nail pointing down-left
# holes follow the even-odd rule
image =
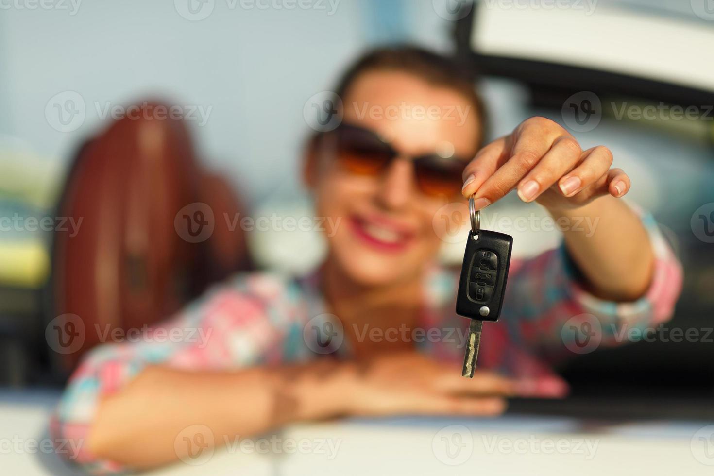
[[[575,138],[562,136],[556,139],[550,151],[518,185],[518,197],[526,203],[534,201],[570,171],[580,161],[580,156],[582,150]]]

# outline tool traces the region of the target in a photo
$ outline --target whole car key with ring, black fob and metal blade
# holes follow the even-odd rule
[[[481,325],[484,320],[496,322],[501,314],[513,237],[481,230],[481,212],[475,210],[473,197],[468,200],[468,208],[471,231],[468,232],[466,252],[463,253],[456,313],[471,318],[461,375],[473,378],[478,345],[481,343]]]

